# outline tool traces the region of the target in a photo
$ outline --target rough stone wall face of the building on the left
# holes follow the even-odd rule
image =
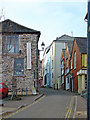
[[[4,38],[4,36],[3,36]],[[2,80],[7,84],[9,90],[12,90],[14,84],[18,90],[32,89],[34,80],[37,79],[37,35],[36,34],[21,34],[19,35],[19,50],[20,53],[3,53],[2,55]],[[2,40],[4,41],[4,40]],[[32,68],[27,69],[27,43],[31,42],[31,64]],[[24,58],[24,76],[14,76],[14,58]]]

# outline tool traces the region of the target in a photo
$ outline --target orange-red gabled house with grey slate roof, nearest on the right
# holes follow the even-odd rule
[[[86,74],[86,71],[82,68],[82,56],[87,53],[87,38],[76,37],[74,39],[71,59],[72,60],[72,91],[78,91],[78,76]],[[85,72],[85,73],[84,73]],[[82,81],[82,79],[81,79]]]

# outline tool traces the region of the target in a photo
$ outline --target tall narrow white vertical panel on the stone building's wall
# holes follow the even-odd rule
[[[31,43],[27,43],[27,69],[31,69]]]

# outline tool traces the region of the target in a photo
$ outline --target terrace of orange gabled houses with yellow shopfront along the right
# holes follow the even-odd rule
[[[80,94],[87,88],[87,38],[74,37],[62,49],[61,87]]]

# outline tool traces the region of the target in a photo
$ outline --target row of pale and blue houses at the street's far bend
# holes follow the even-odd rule
[[[74,38],[68,36],[66,34],[62,35],[61,37],[56,38],[53,40],[52,43],[46,48],[43,56],[43,85],[52,87],[54,89],[59,89],[61,87],[61,69],[60,69],[60,58],[62,54],[62,49],[65,49],[67,43],[73,43]],[[46,68],[48,66],[49,70]],[[50,74],[48,74],[48,71]],[[49,82],[47,81],[47,76],[49,78]]]

